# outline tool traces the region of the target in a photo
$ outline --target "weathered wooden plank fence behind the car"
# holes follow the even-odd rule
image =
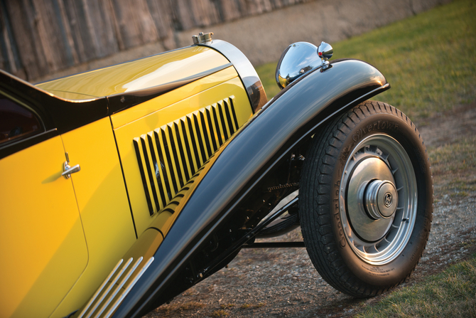
[[[26,80],[313,0],[0,0],[0,68]]]

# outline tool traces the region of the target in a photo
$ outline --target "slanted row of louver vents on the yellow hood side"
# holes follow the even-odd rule
[[[161,211],[237,129],[232,96],[134,138],[149,213]]]

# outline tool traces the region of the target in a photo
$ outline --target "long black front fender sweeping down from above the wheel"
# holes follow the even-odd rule
[[[205,164],[174,211],[180,214],[154,255],[160,261],[113,317],[141,317],[227,265],[252,244],[267,224],[259,222],[281,198],[298,189],[302,155],[315,132],[389,88],[377,68],[341,59],[281,90]],[[296,209],[297,201],[286,208]]]

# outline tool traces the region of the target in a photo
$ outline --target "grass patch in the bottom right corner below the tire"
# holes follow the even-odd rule
[[[476,255],[393,292],[355,317],[476,317]]]

